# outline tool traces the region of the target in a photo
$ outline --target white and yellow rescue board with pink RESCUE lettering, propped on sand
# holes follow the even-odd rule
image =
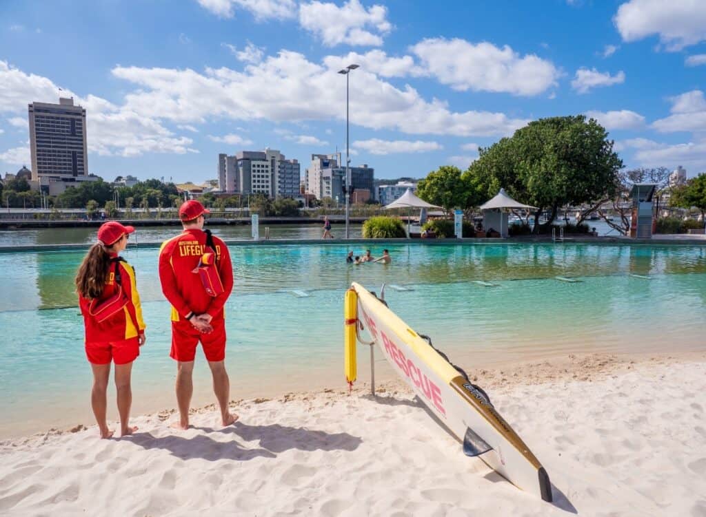
[[[351,290],[357,298],[361,327],[378,344],[393,370],[462,442],[465,454],[478,456],[516,487],[551,501],[546,470],[485,391],[373,293],[357,283]]]

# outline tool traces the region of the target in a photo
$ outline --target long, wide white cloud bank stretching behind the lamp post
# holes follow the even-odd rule
[[[144,116],[179,123],[219,116],[275,122],[345,118],[342,75],[293,51],[282,50],[244,71],[206,68],[201,74],[190,69],[118,66],[112,73],[139,86],[126,95],[127,107]],[[492,136],[511,134],[528,122],[502,113],[453,112],[441,100],[426,101],[409,85],[400,90],[368,71],[355,73],[350,116],[352,123],[366,128]]]

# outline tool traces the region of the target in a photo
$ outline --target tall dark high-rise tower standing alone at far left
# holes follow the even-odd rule
[[[32,102],[29,105],[32,181],[71,181],[88,176],[86,111],[73,99],[59,104]],[[46,182],[48,183],[48,181]]]

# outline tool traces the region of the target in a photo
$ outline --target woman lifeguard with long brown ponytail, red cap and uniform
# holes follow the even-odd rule
[[[135,229],[109,221],[98,229],[98,241],[91,246],[76,274],[78,305],[85,327],[85,353],[93,370],[91,406],[101,438],[113,431],[106,422],[110,363],[115,363],[120,435],[132,434],[129,425],[132,404],[132,363],[145,344],[145,322],[135,271],[120,257]]]

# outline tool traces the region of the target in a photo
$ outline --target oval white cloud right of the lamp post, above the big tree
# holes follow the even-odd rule
[[[537,95],[556,85],[560,73],[534,54],[520,56],[505,45],[471,43],[465,39],[433,38],[411,47],[421,68],[454,90]]]

